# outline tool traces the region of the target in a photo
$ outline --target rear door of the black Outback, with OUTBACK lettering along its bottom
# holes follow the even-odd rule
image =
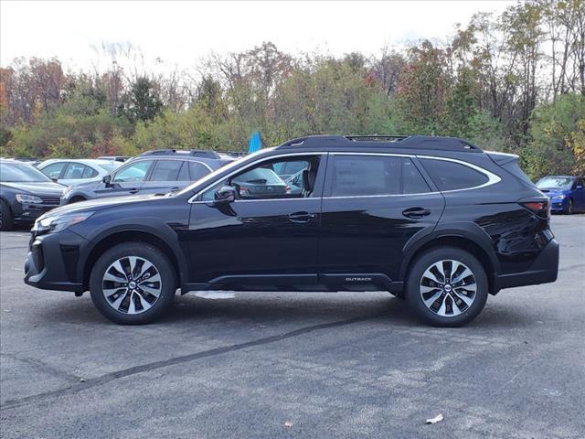
[[[326,176],[320,277],[339,284],[398,279],[406,243],[441,217],[441,194],[406,155],[332,153]]]

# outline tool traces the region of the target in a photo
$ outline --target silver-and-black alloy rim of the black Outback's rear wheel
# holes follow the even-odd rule
[[[442,260],[433,263],[420,278],[420,297],[432,313],[454,317],[467,311],[477,292],[477,281],[463,262]]]

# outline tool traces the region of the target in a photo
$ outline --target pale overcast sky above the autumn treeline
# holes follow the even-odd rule
[[[92,46],[130,42],[147,64],[186,68],[211,51],[272,41],[290,53],[377,53],[420,38],[443,39],[478,11],[509,1],[419,2],[0,2],[0,64],[58,57],[73,70],[96,59]]]

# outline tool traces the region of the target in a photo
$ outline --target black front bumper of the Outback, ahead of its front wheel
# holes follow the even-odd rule
[[[78,264],[86,243],[69,230],[33,235],[25,261],[25,283],[43,290],[82,293],[87,288],[78,279]]]

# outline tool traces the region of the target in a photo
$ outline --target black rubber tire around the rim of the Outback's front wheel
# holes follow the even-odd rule
[[[151,305],[150,308],[147,308],[144,311],[139,311],[139,314],[127,314],[130,310],[124,312],[123,310],[114,309],[113,305],[110,305],[111,302],[109,302],[109,299],[107,299],[103,293],[103,285],[110,286],[110,284],[106,284],[110,281],[104,279],[106,270],[108,270],[112,263],[116,261],[129,261],[128,257],[138,257],[150,262],[154,265],[154,270],[158,272],[161,279],[160,295],[158,295],[158,298],[154,301],[154,305]],[[122,265],[124,265],[123,262]],[[128,272],[129,271],[130,270],[128,270]],[[132,280],[132,277],[130,279]],[[90,294],[93,304],[98,308],[102,316],[121,325],[144,325],[153,322],[156,318],[161,316],[170,305],[172,305],[176,294],[176,284],[175,269],[173,264],[165,256],[165,253],[161,252],[153,245],[144,242],[124,242],[112,247],[112,249],[104,252],[98,261],[94,263],[90,273]],[[121,290],[122,294],[124,292],[130,294],[127,302],[129,304],[133,299],[133,292],[123,286],[121,287]],[[142,291],[140,290],[140,286],[137,287],[137,290]],[[112,290],[106,289],[106,291]],[[144,291],[142,291],[142,294],[144,294]],[[120,295],[118,295],[118,297]],[[137,295],[140,297],[133,302],[138,302],[140,304],[140,298],[142,298],[142,295]],[[115,295],[112,295],[112,299],[110,300],[113,301],[113,298],[115,297]],[[125,299],[122,303],[124,302]],[[121,307],[119,307],[119,309],[121,309]],[[144,309],[144,307],[142,309]]]

